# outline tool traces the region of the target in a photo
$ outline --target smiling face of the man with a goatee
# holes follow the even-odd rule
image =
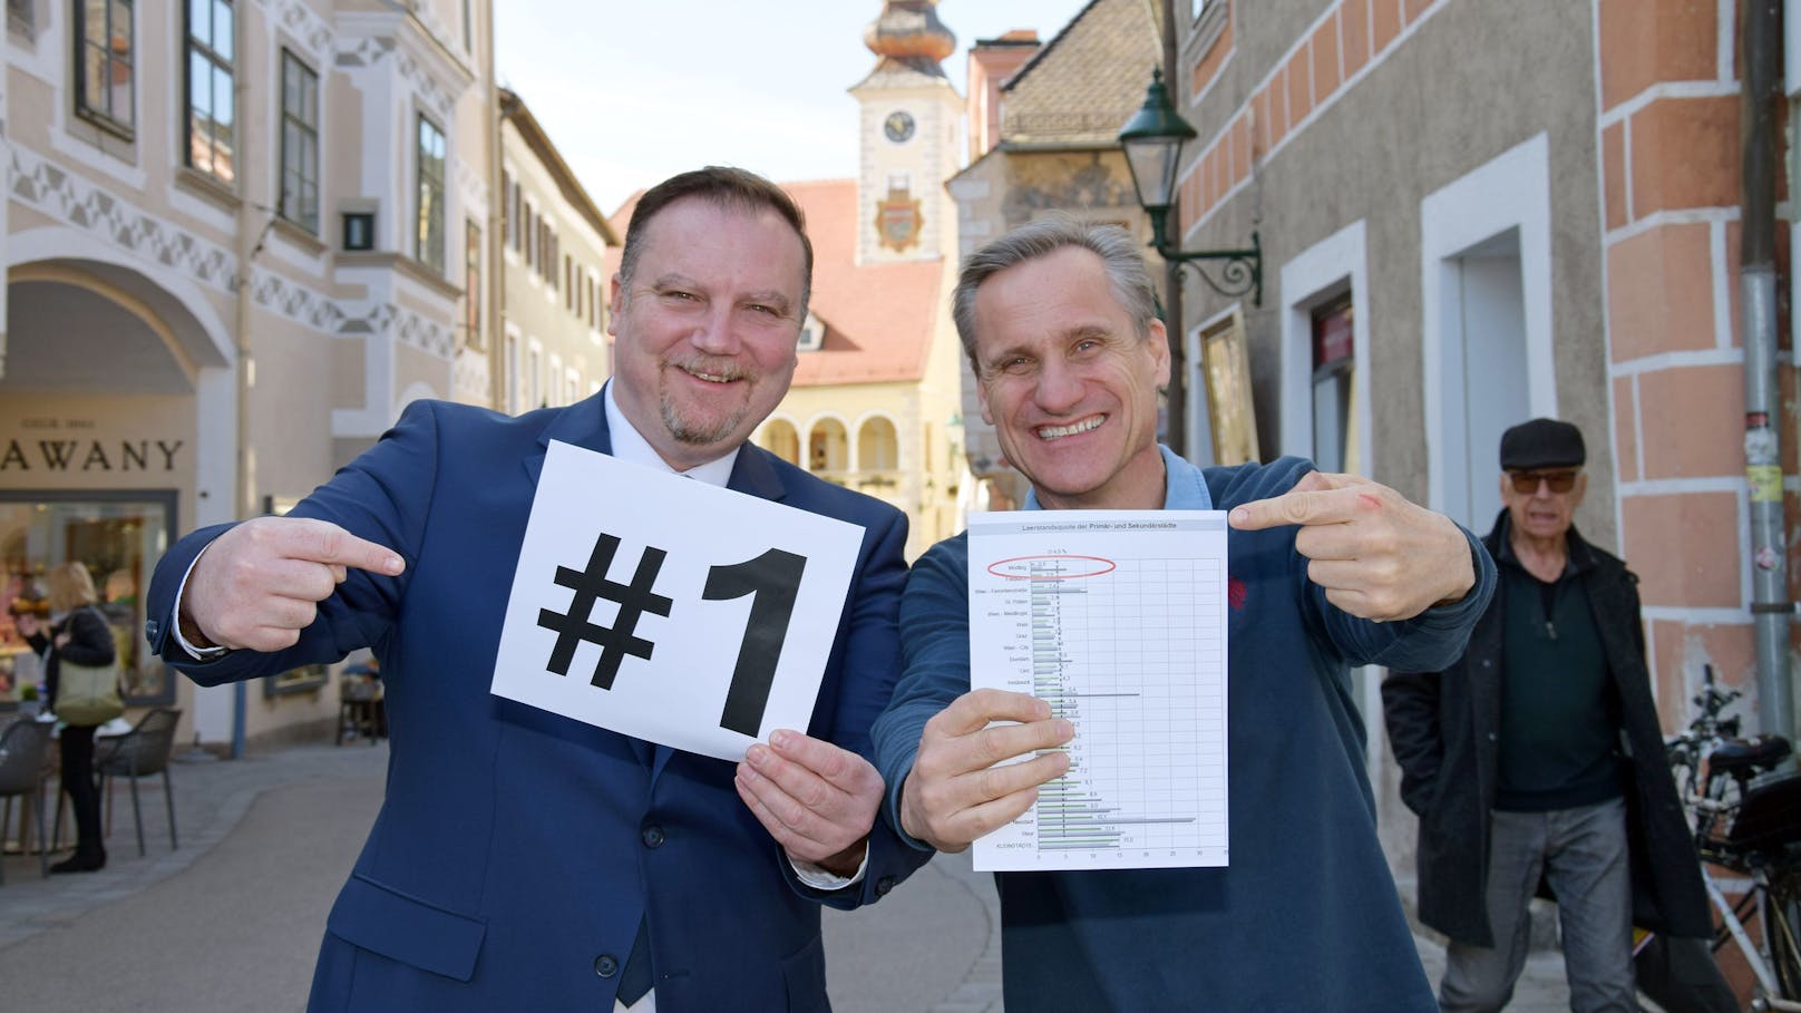
[[[612,279],[614,398],[672,469],[744,443],[794,379],[805,252],[769,209],[681,198]]]

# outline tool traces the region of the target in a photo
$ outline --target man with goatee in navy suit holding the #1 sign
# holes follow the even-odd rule
[[[195,532],[157,566],[151,643],[200,683],[382,660],[387,799],[313,1009],[828,1008],[819,905],[873,901],[924,856],[875,818],[866,759],[906,517],[746,443],[792,379],[810,272],[778,187],[674,177],[627,231],[605,391],[519,418],[414,402],[286,517]],[[488,692],[551,440],[863,526],[805,734],[733,766]]]

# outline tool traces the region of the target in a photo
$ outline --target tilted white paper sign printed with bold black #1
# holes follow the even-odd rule
[[[805,730],[863,528],[549,445],[493,694],[720,759]]]

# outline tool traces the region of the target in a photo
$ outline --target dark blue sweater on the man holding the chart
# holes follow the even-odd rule
[[[1230,510],[1313,469],[1282,458],[1203,472],[1169,449],[1163,460],[1171,510]],[[1376,840],[1349,665],[1435,671],[1457,658],[1495,588],[1493,561],[1470,546],[1477,586],[1462,602],[1376,624],[1308,580],[1295,528],[1230,532],[1230,865],[996,874],[1007,1008],[1434,1013]],[[900,600],[904,672],[873,728],[895,827],[926,721],[969,690],[967,570],[964,535],[938,543]]]

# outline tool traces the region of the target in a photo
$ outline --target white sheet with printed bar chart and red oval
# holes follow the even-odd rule
[[[969,671],[1075,725],[978,871],[1226,865],[1223,512],[971,516]]]

